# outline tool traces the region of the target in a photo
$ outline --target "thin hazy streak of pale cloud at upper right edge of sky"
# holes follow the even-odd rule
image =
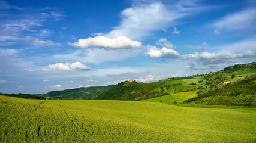
[[[253,21],[256,20],[256,9],[249,8],[237,13],[226,15],[220,20],[213,23],[218,29],[241,29],[244,27],[254,26]]]

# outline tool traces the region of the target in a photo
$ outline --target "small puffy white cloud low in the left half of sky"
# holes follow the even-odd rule
[[[85,64],[83,64],[81,62],[65,63],[65,64],[64,63],[56,63],[56,64],[49,64],[48,67],[46,67],[44,71],[49,71],[49,70],[64,70],[64,71],[91,70],[91,67],[86,66]]]

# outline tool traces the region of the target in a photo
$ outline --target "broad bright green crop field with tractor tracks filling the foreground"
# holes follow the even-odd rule
[[[0,96],[0,142],[255,142],[255,108]]]

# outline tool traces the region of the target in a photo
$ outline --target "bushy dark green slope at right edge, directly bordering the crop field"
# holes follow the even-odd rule
[[[206,91],[199,91],[197,97],[183,103],[255,106],[256,74]]]

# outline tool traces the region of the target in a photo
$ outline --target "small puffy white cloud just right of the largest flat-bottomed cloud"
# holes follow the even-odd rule
[[[145,53],[147,56],[152,58],[179,58],[180,54],[173,49],[166,47],[160,49],[154,46],[147,46],[148,51]]]

